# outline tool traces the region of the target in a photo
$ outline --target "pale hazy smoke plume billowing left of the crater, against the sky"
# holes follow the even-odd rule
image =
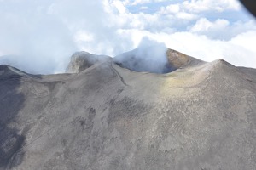
[[[112,21],[102,0],[0,1],[0,65],[49,74],[65,71],[77,51],[121,53],[131,41]]]

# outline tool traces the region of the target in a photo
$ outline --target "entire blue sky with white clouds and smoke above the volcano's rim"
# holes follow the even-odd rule
[[[236,0],[0,0],[0,64],[63,72],[76,51],[115,56],[143,37],[256,68],[256,22]]]

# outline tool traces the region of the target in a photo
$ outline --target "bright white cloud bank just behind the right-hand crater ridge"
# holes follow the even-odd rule
[[[206,36],[192,32],[176,32],[173,34],[149,31],[122,31],[123,35],[133,37],[134,44],[138,45],[143,37],[158,42],[164,42],[167,48],[189,54],[198,59],[211,62],[215,59],[225,59],[233,65],[256,68],[256,31],[247,31],[228,41],[212,40]]]

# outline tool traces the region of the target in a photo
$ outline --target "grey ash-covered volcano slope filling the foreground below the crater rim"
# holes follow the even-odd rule
[[[254,69],[221,59],[168,74],[111,60],[42,77],[0,69],[0,169],[256,167]]]

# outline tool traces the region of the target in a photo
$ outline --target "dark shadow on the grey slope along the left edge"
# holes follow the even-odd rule
[[[18,91],[22,77],[26,73],[8,65],[0,65],[0,169],[19,165],[24,153],[20,151],[25,136],[15,127],[15,118],[25,101]]]

